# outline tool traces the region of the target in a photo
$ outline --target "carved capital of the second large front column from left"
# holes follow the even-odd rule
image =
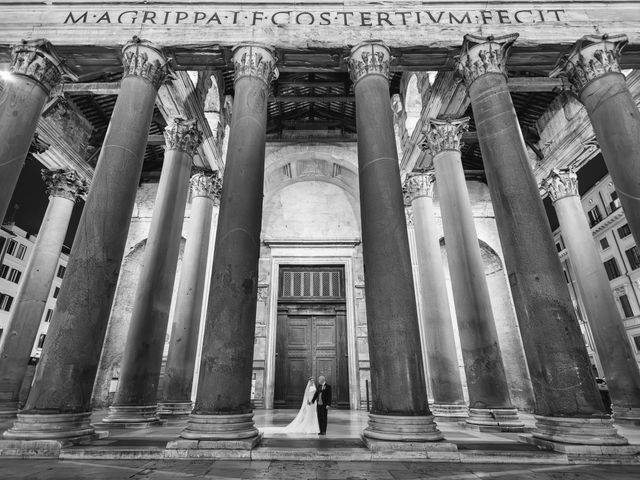
[[[126,77],[140,77],[158,90],[169,72],[169,61],[162,50],[147,40],[138,37],[122,47],[122,64]]]

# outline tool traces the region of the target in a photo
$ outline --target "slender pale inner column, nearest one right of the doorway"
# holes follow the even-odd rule
[[[433,212],[433,172],[410,173],[404,183],[405,195],[413,209],[416,256],[422,296],[422,321],[426,354],[431,370],[433,405],[437,421],[466,418],[462,381],[454,339],[439,235]]]

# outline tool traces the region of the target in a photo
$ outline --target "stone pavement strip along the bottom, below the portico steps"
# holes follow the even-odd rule
[[[2,480],[51,479],[576,479],[640,478],[637,466],[487,465],[425,462],[284,462],[284,461],[117,461],[0,459]]]

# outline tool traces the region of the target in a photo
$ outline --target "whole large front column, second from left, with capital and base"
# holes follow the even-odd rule
[[[156,95],[167,60],[134,38],[33,387],[11,439],[90,438],[91,390],[109,321]]]

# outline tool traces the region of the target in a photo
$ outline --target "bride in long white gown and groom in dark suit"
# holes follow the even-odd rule
[[[315,404],[315,408],[314,408]],[[309,378],[304,390],[302,406],[293,421],[284,427],[285,433],[327,433],[327,410],[331,406],[331,386],[323,375],[318,377],[316,386]]]

